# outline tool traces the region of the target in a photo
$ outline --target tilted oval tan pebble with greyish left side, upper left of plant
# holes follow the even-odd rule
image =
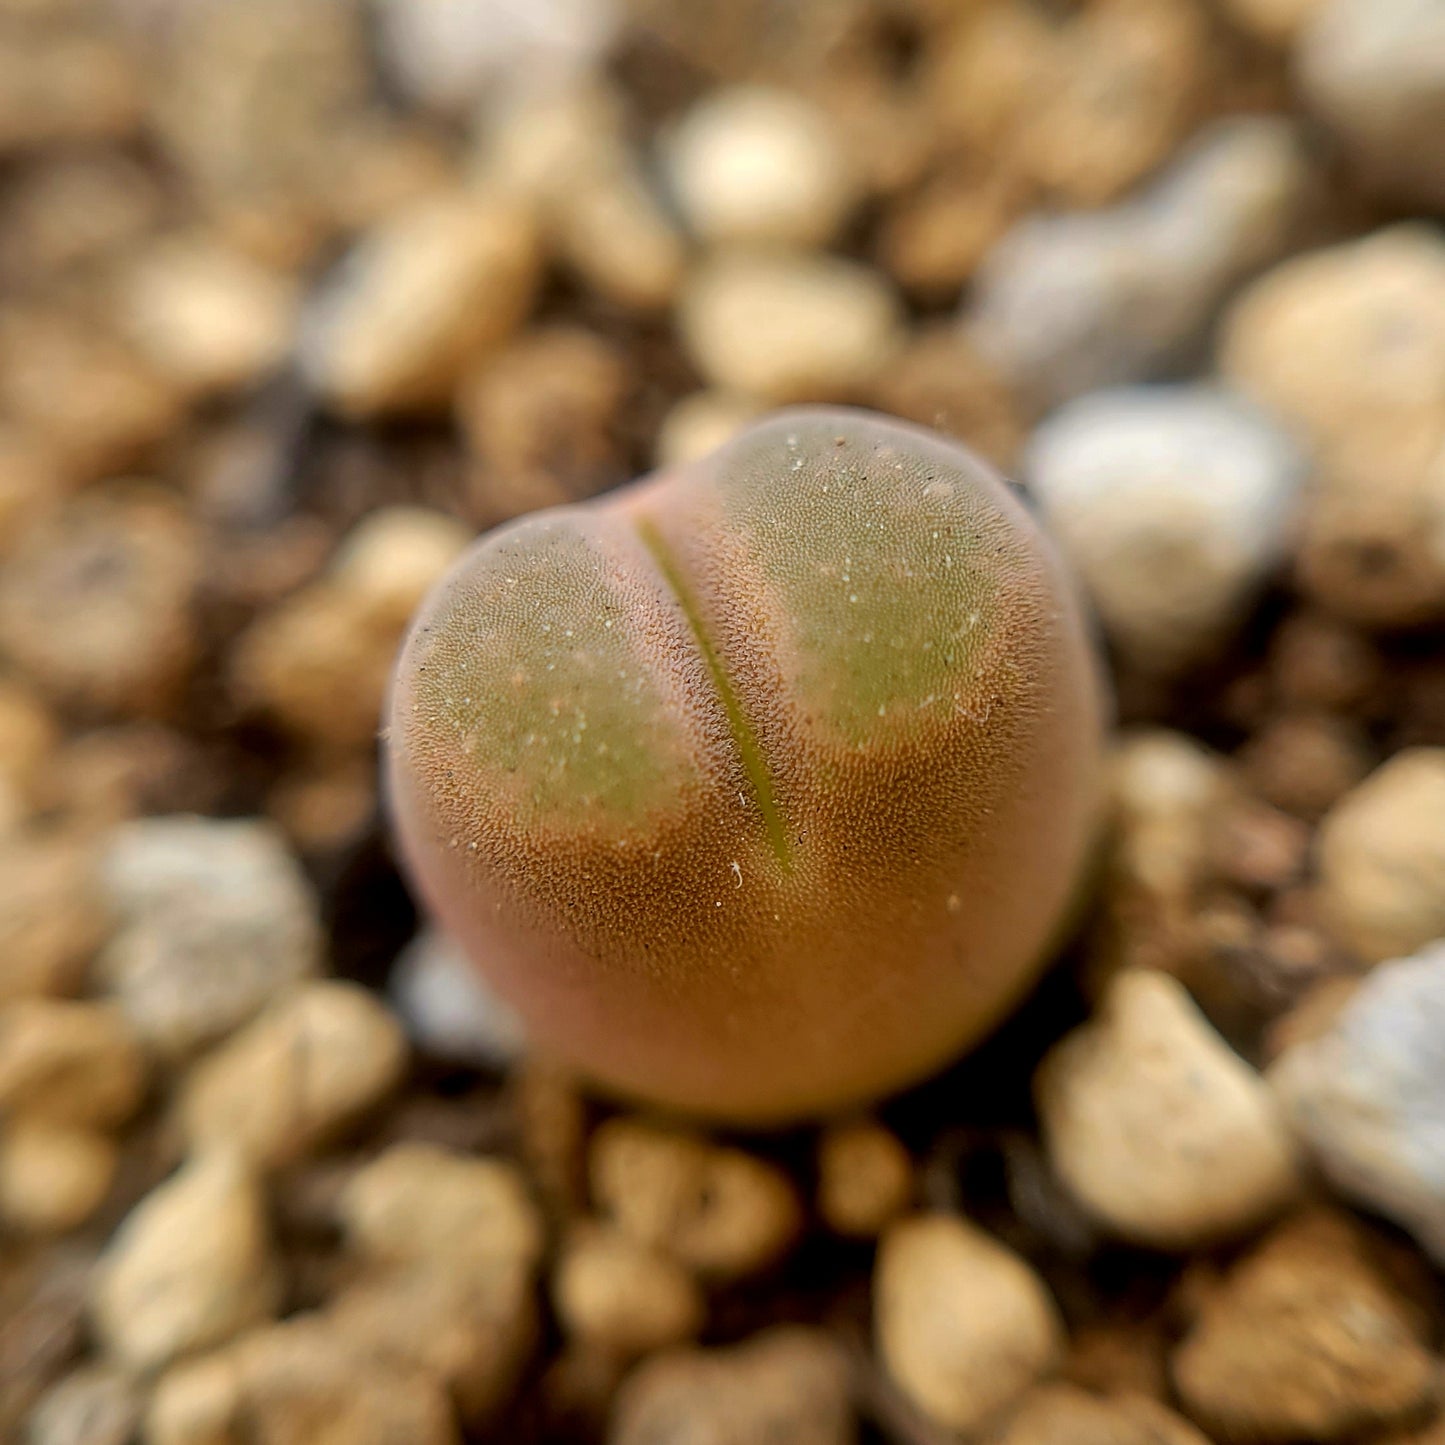
[[[351,419],[444,410],[467,367],[532,309],[539,280],[523,207],[420,201],[368,231],[309,302],[302,373]]]

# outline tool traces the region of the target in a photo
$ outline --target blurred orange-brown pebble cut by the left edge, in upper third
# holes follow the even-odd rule
[[[0,318],[0,410],[45,445],[69,483],[147,461],[184,400],[94,316],[14,306]]]

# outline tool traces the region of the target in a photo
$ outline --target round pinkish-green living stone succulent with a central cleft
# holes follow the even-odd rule
[[[473,548],[399,662],[393,806],[539,1042],[786,1120],[922,1077],[1027,985],[1090,844],[1098,688],[980,461],[782,412]]]

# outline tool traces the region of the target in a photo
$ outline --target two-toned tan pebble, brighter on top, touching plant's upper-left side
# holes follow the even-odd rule
[[[231,653],[231,689],[319,751],[370,764],[402,634],[422,597],[473,540],[428,507],[380,507],[327,572],[262,611]]]

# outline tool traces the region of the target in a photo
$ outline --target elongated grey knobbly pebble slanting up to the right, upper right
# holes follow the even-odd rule
[[[1217,121],[1136,198],[1014,225],[977,273],[968,337],[1039,407],[1149,380],[1285,249],[1308,181],[1289,123]]]

